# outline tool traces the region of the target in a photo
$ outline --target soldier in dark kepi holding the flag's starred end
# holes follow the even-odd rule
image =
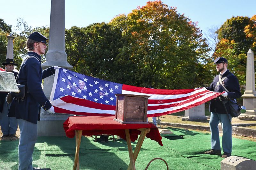
[[[27,89],[24,98],[14,98],[9,110],[9,117],[18,119],[20,128],[19,170],[40,169],[32,167],[32,154],[37,140],[37,121],[40,120],[40,107],[53,114],[54,108],[45,97],[41,83],[42,79],[51,76],[56,69],[54,66],[42,70],[41,56],[45,53],[47,38],[41,33],[34,32],[28,36],[26,49],[28,56],[20,66],[17,83]]]

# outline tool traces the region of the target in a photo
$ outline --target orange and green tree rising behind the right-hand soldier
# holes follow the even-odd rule
[[[217,31],[219,42],[213,57],[227,58],[228,69],[236,75],[240,85],[245,85],[246,81],[247,52],[250,48],[255,50],[255,18],[232,17]]]

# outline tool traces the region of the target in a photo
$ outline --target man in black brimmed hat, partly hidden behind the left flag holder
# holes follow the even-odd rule
[[[13,71],[14,66],[17,65],[14,63],[13,59],[6,58],[6,62],[2,63],[5,66],[5,71],[12,72],[16,78],[18,72]],[[6,102],[6,95],[8,92],[0,92],[0,126],[4,137],[15,137],[18,121],[15,117],[8,117],[8,111],[10,104]]]

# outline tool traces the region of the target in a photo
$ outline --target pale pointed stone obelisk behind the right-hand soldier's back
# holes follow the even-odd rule
[[[239,115],[238,118],[240,120],[256,120],[254,54],[251,49],[247,52],[246,62],[246,87],[244,95],[242,95],[243,105],[246,107],[246,112]]]

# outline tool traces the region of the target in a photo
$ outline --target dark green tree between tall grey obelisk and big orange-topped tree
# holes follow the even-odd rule
[[[87,75],[114,81],[113,63],[121,47],[122,35],[104,22],[66,30],[68,62]]]

